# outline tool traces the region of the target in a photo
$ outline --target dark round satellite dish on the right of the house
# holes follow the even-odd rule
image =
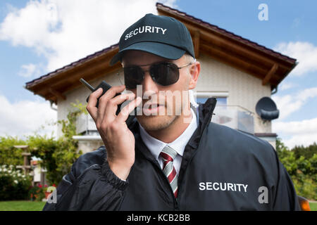
[[[280,115],[280,110],[276,107],[275,102],[269,97],[261,98],[256,103],[256,113],[262,120],[275,120]]]

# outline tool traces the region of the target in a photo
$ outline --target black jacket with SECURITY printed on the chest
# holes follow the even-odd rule
[[[159,162],[139,136],[127,181],[108,166],[101,146],[81,155],[43,210],[300,210],[294,186],[266,141],[211,121],[215,98],[199,105],[199,124],[185,147],[175,199]]]

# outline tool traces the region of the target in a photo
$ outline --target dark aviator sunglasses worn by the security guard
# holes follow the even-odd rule
[[[142,84],[144,80],[145,72],[149,71],[149,75],[156,82],[162,86],[168,86],[178,82],[180,78],[180,69],[185,68],[187,65],[192,63],[187,63],[178,67],[174,63],[160,62],[154,63],[150,66],[149,70],[142,70],[142,66],[145,65],[131,65],[123,68],[125,75],[125,87],[128,89],[136,89],[137,85]]]

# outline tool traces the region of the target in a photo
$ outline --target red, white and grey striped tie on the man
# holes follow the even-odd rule
[[[178,174],[173,166],[173,160],[178,153],[170,146],[166,145],[160,153],[163,159],[163,173],[168,178],[170,186],[172,187],[175,198],[178,197]]]

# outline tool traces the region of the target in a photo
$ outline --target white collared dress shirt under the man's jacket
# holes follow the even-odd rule
[[[147,133],[147,131],[139,124],[139,132],[141,135],[142,140],[144,141],[144,144],[149,148],[152,155],[154,155],[154,158],[159,162],[159,165],[161,165],[161,168],[163,169],[163,160],[160,157],[160,153],[163,150],[163,148],[168,145],[170,148],[173,148],[178,155],[173,160],[173,166],[175,167],[175,170],[177,173],[180,172],[180,164],[182,163],[182,154],[184,153],[185,146],[187,145],[189,139],[192,137],[192,134],[194,134],[194,131],[197,129],[197,117],[192,110],[192,121],[188,125],[188,127],[185,129],[182,134],[172,141],[171,143],[165,143],[163,141],[160,141],[159,139],[155,139],[151,135]]]

